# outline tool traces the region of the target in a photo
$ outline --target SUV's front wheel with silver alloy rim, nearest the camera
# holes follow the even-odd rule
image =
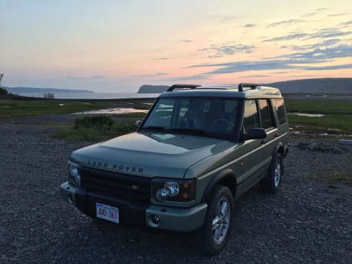
[[[204,254],[219,254],[231,233],[234,201],[230,189],[219,185],[208,199],[203,227],[189,237],[192,248]]]

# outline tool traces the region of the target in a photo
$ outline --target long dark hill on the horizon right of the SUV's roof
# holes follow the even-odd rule
[[[351,94],[352,78],[317,78],[269,83],[282,93]]]

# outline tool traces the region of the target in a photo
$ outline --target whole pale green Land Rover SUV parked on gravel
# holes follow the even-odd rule
[[[257,183],[280,189],[289,124],[278,89],[173,85],[136,124],[72,153],[65,201],[113,223],[188,232],[195,250],[218,254],[234,200]]]

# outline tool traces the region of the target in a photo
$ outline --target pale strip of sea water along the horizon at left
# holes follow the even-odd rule
[[[19,96],[41,97],[43,94],[17,93]],[[55,99],[124,99],[124,98],[156,98],[159,94],[133,93],[55,93]]]

